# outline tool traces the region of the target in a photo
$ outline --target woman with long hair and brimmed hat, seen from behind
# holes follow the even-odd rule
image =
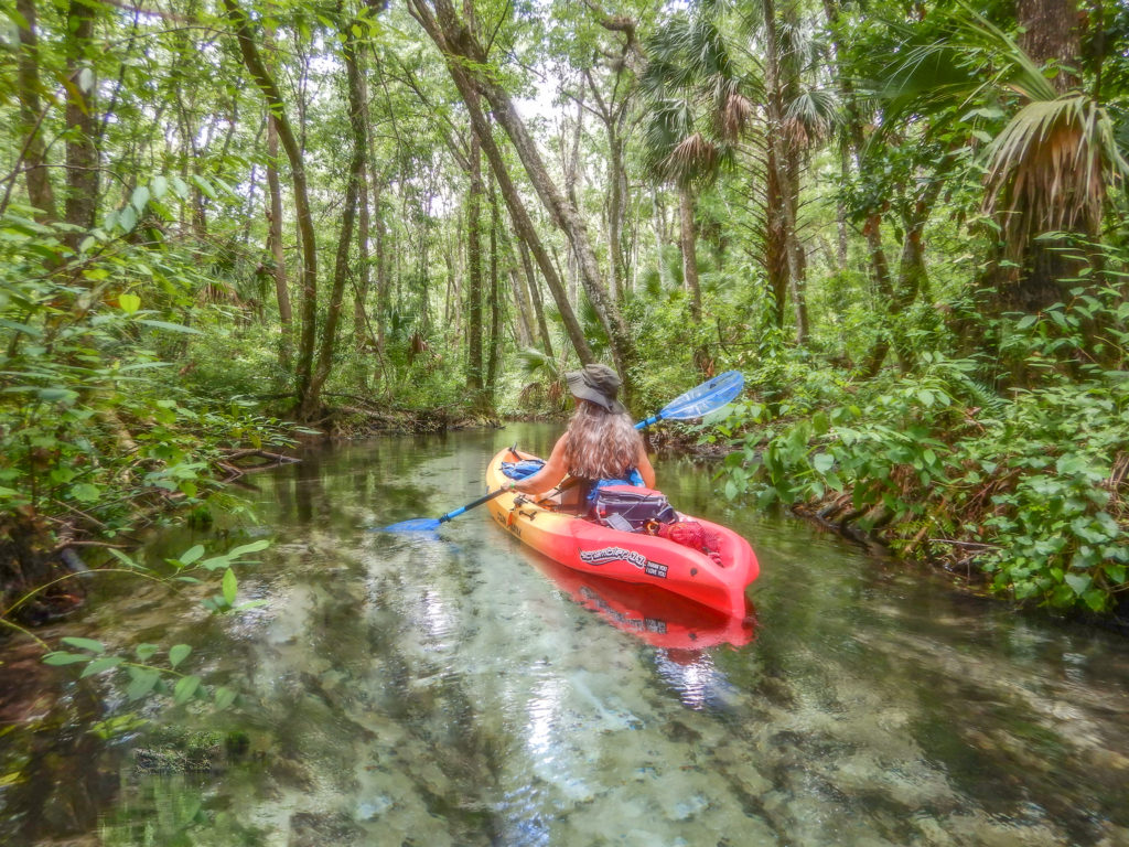
[[[528,495],[549,491],[566,474],[589,483],[655,487],[655,469],[647,459],[642,436],[616,400],[621,381],[606,365],[585,365],[564,375],[576,398],[568,431],[553,446],[544,468],[510,483],[510,490]]]

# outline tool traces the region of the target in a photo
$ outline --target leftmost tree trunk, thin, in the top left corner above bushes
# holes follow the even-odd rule
[[[43,222],[58,220],[55,194],[45,166],[46,145],[43,143],[44,111],[40,101],[40,43],[34,0],[16,0],[16,11],[24,17],[26,27],[19,27],[19,60],[16,70],[16,94],[19,98],[19,134],[23,139],[20,157],[27,182],[27,199],[36,209],[35,219]],[[17,163],[17,167],[20,163]]]

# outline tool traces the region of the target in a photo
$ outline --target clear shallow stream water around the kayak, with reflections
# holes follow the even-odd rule
[[[191,643],[191,670],[240,701],[166,709],[105,743],[85,732],[87,689],[67,687],[0,736],[19,775],[0,788],[0,840],[1129,845],[1122,638],[724,507],[689,462],[659,461],[659,483],[753,542],[755,626],[570,582],[484,512],[439,541],[367,531],[473,499],[496,449],[544,453],[555,435],[386,438],[253,478],[255,532],[274,544],[240,593],[263,608],[211,618],[117,583],[71,625]],[[245,750],[225,749],[233,731]],[[217,741],[209,772],[138,765]]]

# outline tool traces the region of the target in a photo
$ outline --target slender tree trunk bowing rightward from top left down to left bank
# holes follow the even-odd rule
[[[243,62],[255,85],[263,93],[263,97],[266,98],[266,106],[278,128],[279,140],[282,142],[282,148],[290,161],[294,202],[298,216],[298,232],[301,236],[298,244],[303,260],[301,339],[298,349],[297,393],[299,408],[307,409],[310,405],[308,394],[314,378],[314,346],[317,339],[317,246],[314,238],[314,219],[309,209],[309,194],[306,189],[306,165],[303,160],[301,149],[298,147],[298,140],[287,120],[282,94],[263,64],[259,49],[255,46],[251,21],[246,12],[239,8],[236,0],[224,0],[224,8],[227,11],[228,20],[235,27]]]

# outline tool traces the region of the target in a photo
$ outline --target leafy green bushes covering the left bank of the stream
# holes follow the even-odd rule
[[[134,202],[147,215],[164,183]],[[183,190],[174,189],[174,190]],[[134,206],[130,206],[135,210]],[[195,507],[225,449],[286,444],[287,428],[215,407],[175,370],[211,306],[191,250],[134,244],[135,215],[72,253],[60,227],[0,219],[0,506],[113,536],[169,506]]]

